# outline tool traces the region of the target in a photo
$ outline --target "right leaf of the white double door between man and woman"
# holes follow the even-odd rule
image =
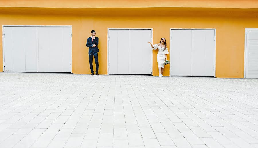
[[[129,31],[130,74],[151,74],[151,30]]]

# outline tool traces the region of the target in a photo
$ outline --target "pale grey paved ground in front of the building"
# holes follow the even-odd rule
[[[0,73],[0,147],[258,147],[258,79]]]

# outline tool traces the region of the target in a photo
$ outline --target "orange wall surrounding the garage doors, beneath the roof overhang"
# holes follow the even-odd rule
[[[240,12],[236,13],[240,15]],[[170,28],[215,28],[216,77],[243,78],[245,28],[258,28],[258,20],[255,16],[165,14],[97,17],[92,15],[0,14],[0,20],[0,25],[72,25],[72,72],[75,74],[91,73],[88,48],[85,44],[92,29],[96,30],[96,36],[99,37],[99,74],[107,74],[107,28],[153,28],[153,43],[158,43],[161,37],[165,37],[168,47]],[[2,69],[2,45],[0,45],[0,52],[0,69]],[[157,50],[153,50],[153,75],[155,76],[159,74],[156,56]],[[169,65],[165,66],[163,75],[169,76]]]

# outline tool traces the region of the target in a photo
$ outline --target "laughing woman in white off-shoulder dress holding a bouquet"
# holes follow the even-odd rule
[[[157,61],[158,61],[158,69],[159,69],[159,78],[161,78],[163,75],[163,70],[164,70],[164,62],[167,60],[167,54],[169,54],[167,50],[167,43],[165,38],[161,38],[160,42],[158,44],[151,44],[150,46],[152,49],[156,50],[159,49],[158,54],[157,54]]]

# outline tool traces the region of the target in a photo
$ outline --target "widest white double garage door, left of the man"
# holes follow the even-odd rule
[[[6,72],[71,72],[71,27],[4,27]]]

